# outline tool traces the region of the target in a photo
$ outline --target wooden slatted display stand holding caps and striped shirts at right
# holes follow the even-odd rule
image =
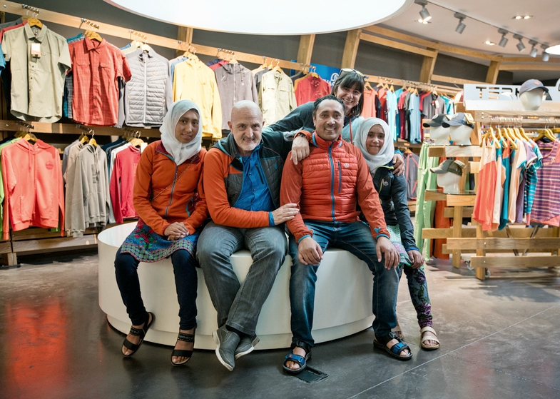
[[[481,124],[522,126],[526,130],[531,128],[549,127],[560,120],[560,103],[546,101],[545,110],[504,111],[501,101],[496,101],[502,108],[497,110],[478,110],[474,112],[476,122],[475,131],[480,137]],[[488,103],[488,101],[487,101]],[[468,108],[467,102],[467,108]],[[476,108],[475,108],[476,109]],[[527,118],[529,117],[529,118]],[[479,146],[444,146],[429,148],[429,156],[461,157],[464,161],[471,156],[475,160],[482,153]],[[478,158],[479,159],[479,158]],[[465,162],[475,181],[478,177],[479,162]],[[462,185],[464,187],[464,185]],[[447,238],[443,250],[451,251],[453,266],[458,268],[461,263],[461,253],[476,252],[471,258],[471,266],[475,269],[477,278],[484,280],[489,276],[489,268],[500,267],[555,267],[560,265],[560,228],[527,228],[523,224],[509,223],[502,231],[482,231],[482,226],[472,221],[472,226],[462,227],[462,219],[472,216],[475,194],[444,194],[426,191],[426,201],[447,201],[444,216],[452,217],[453,228],[429,228],[422,230],[422,238]],[[560,196],[559,196],[560,200]],[[511,251],[513,252],[511,254]],[[521,252],[521,253],[520,253]],[[528,255],[529,253],[538,253]],[[550,255],[543,255],[550,253]]]

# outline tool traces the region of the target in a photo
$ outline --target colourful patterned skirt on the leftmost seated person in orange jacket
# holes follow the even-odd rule
[[[168,241],[166,237],[160,236],[146,223],[139,221],[121,246],[121,253],[130,253],[137,261],[153,263],[168,258],[175,251],[184,249],[196,259],[196,242],[200,231],[202,228],[198,228],[195,233],[180,238],[180,240]]]

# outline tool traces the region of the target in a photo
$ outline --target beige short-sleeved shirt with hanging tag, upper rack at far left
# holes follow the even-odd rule
[[[4,33],[2,52],[11,61],[12,115],[24,121],[58,121],[71,67],[66,39],[45,24],[41,29],[26,24]]]

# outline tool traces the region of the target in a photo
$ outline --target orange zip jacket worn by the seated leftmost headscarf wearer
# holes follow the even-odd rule
[[[177,166],[161,140],[143,151],[136,168],[133,203],[141,220],[160,236],[174,222],[185,223],[192,234],[208,218],[202,188],[205,155],[202,148]]]

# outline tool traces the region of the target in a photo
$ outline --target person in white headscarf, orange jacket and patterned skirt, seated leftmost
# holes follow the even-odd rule
[[[200,110],[193,101],[173,103],[160,128],[161,141],[149,144],[136,168],[133,203],[138,225],[118,249],[116,279],[132,327],[122,352],[131,356],[146,336],[154,315],[144,308],[138,263],[171,258],[179,302],[179,335],[171,354],[183,365],[193,353],[196,328],[196,242],[208,218],[202,191],[206,150]]]

